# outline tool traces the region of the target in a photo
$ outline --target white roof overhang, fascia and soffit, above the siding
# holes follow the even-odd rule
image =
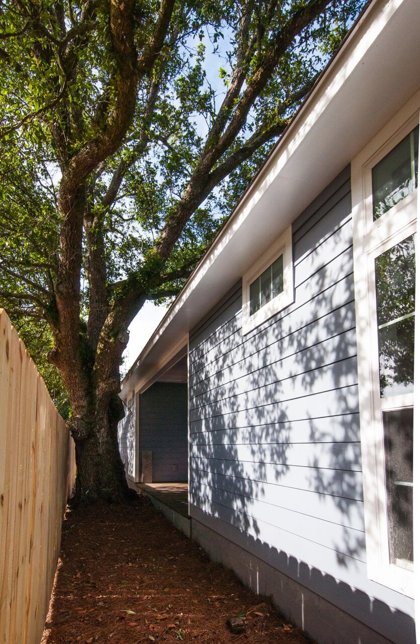
[[[149,372],[162,363],[171,346],[265,251],[265,240],[281,234],[372,138],[374,128],[380,129],[392,110],[401,107],[401,91],[385,102],[376,99],[392,79],[375,70],[381,65],[389,69],[389,57],[396,76],[397,59],[406,55],[404,46],[411,46],[410,30],[418,33],[419,13],[417,0],[374,0],[368,6],[138,356],[123,392],[138,387],[139,370]],[[395,33],[391,28],[388,38],[381,37],[390,25]],[[392,46],[393,37],[397,46]],[[411,71],[402,66],[401,82],[412,73],[407,81],[411,87],[419,78],[417,68],[415,61]]]

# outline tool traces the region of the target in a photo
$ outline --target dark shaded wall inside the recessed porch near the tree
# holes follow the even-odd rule
[[[142,450],[152,451],[153,482],[186,481],[187,385],[155,383],[140,395]]]

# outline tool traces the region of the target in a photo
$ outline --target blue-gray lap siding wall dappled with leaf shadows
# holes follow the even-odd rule
[[[191,516],[408,644],[367,576],[349,169],[292,230],[294,303],[242,336],[238,284],[190,334]]]

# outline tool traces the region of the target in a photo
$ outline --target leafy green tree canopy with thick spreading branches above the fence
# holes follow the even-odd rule
[[[0,305],[75,440],[364,3],[1,1]]]

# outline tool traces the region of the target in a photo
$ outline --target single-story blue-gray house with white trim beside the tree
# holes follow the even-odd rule
[[[419,33],[370,3],[122,382],[131,484],[320,643],[415,642]]]

